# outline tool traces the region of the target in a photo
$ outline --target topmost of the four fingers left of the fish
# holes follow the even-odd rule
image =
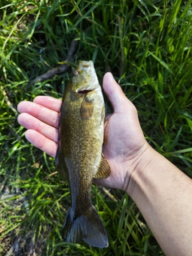
[[[50,96],[37,96],[34,98],[34,102],[57,112],[60,112],[62,106],[62,101],[60,99]]]

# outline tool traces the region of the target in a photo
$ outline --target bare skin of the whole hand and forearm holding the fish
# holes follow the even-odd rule
[[[166,255],[191,256],[191,179],[146,142],[135,106],[112,74],[105,74],[103,89],[114,108],[106,117],[103,143],[111,174],[94,182],[125,190],[133,198]],[[26,138],[52,157],[58,147],[61,104],[46,96],[18,104],[18,122],[26,127]]]

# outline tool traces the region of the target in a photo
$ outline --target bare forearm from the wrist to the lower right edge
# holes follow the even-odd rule
[[[127,192],[166,255],[192,255],[190,178],[148,147],[131,174]]]

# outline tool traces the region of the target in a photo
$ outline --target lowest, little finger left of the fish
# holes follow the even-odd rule
[[[45,151],[46,154],[49,154],[53,158],[55,157],[58,149],[58,144],[56,142],[39,134],[36,130],[27,130],[25,136],[26,139],[34,146],[38,147],[38,149]]]

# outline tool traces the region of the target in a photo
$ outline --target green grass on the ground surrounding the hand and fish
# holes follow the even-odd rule
[[[62,242],[69,188],[54,159],[35,149],[18,125],[17,105],[37,95],[61,98],[70,74],[30,85],[66,59],[93,60],[102,83],[110,70],[138,108],[147,141],[192,177],[192,1],[14,1],[0,6],[0,254],[163,255],[122,191],[93,186],[106,226],[104,250]],[[107,102],[110,110],[110,103]],[[3,153],[3,154],[2,154]],[[2,252],[1,252],[2,250]]]

